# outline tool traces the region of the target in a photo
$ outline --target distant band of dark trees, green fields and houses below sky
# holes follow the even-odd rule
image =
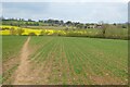
[[[127,28],[127,23],[104,23],[103,21],[99,23],[80,23],[80,22],[64,22],[62,20],[39,20],[32,21],[31,18],[4,18],[0,17],[3,25],[12,25],[12,26],[65,26],[65,27],[74,27],[74,28],[103,28],[104,26],[116,26],[117,28]]]

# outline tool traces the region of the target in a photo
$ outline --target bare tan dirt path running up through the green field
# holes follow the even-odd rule
[[[28,55],[29,55],[29,49],[28,49],[28,42],[30,40],[30,37],[27,38],[26,42],[24,44],[21,55],[20,55],[20,66],[17,67],[15,72],[15,79],[14,79],[14,85],[27,85],[29,82],[29,61],[28,61]]]

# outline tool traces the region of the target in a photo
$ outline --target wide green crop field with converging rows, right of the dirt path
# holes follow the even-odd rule
[[[127,84],[127,40],[39,36],[29,44],[37,48],[30,55],[35,69],[51,70],[48,84]]]

